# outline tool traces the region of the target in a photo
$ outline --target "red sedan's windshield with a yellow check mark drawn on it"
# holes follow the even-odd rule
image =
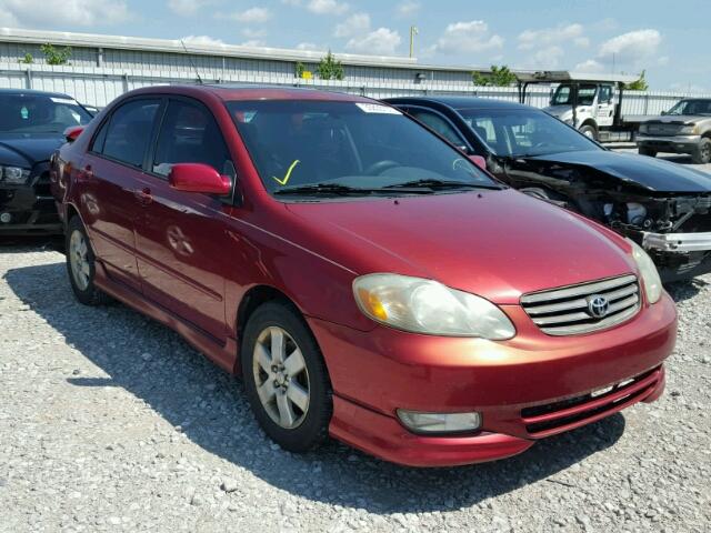
[[[308,100],[227,105],[272,193],[317,184],[359,190],[414,182],[500,185],[444,141],[387,105]]]

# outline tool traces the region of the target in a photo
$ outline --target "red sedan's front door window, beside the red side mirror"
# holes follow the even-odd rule
[[[229,173],[230,153],[212,113],[203,105],[171,101],[158,135],[153,172],[168,175],[176,163],[209,164]]]

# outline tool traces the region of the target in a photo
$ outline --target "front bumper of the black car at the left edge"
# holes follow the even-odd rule
[[[0,235],[60,234],[54,199],[31,185],[0,188]]]

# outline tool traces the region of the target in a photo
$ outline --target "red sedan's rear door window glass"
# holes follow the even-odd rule
[[[132,100],[117,109],[111,115],[101,153],[141,167],[159,107],[160,100]]]

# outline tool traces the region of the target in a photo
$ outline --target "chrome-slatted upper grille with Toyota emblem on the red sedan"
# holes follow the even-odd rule
[[[607,302],[604,314],[593,312],[600,311],[600,305],[591,304],[598,296]],[[640,309],[640,288],[637,276],[630,274],[524,294],[521,305],[544,333],[577,335],[631,319]]]

